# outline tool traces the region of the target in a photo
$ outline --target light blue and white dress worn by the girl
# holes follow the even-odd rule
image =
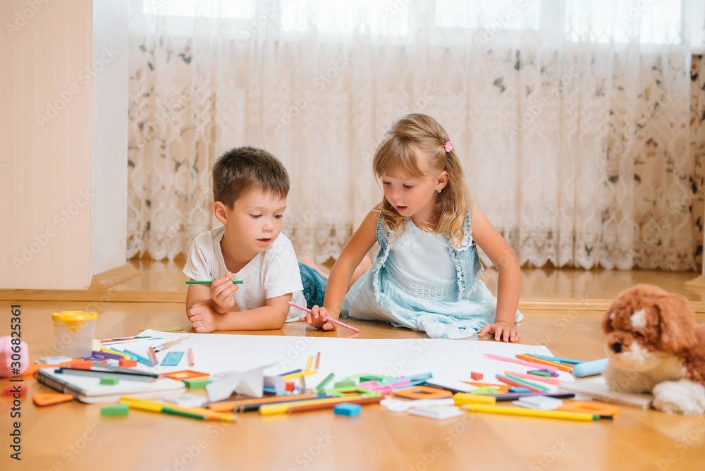
[[[431,338],[467,338],[494,322],[497,299],[479,276],[470,213],[465,237],[453,246],[448,237],[421,231],[408,219],[395,240],[377,221],[377,258],[345,295],[341,316],[391,322],[425,331]],[[523,315],[517,311],[515,322]]]

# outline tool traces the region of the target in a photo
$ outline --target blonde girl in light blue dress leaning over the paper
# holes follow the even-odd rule
[[[384,198],[345,245],[331,269],[324,307],[314,306],[306,322],[331,330],[336,326],[326,315],[343,314],[434,338],[466,338],[479,331],[479,336],[519,341],[514,326],[523,318],[517,311],[519,263],[470,202],[446,130],[430,116],[404,116],[384,136],[373,166]],[[375,241],[380,250],[372,269],[348,291],[355,267]],[[476,243],[499,270],[498,300],[479,280]]]

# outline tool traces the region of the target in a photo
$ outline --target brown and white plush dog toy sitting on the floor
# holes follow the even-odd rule
[[[697,415],[705,412],[705,324],[695,322],[688,302],[658,286],[623,291],[605,313],[612,391],[654,394],[654,408]]]

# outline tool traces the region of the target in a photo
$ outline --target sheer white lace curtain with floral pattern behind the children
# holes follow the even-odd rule
[[[298,254],[337,257],[419,111],[520,263],[697,269],[702,3],[133,0],[128,257],[214,226],[210,170],[241,145],[288,169]]]

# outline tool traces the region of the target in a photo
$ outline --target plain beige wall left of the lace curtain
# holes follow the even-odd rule
[[[93,116],[101,112],[93,109],[99,73],[92,76],[91,65],[103,52],[92,50],[92,14],[92,0],[0,2],[0,288],[86,288],[92,264],[113,268],[120,247],[125,262],[124,236],[119,247],[91,245],[91,215],[101,209],[95,200],[106,194],[91,183]],[[101,73],[114,65],[104,63]],[[126,66],[124,87],[126,96]],[[126,126],[126,112],[110,119]],[[126,157],[115,158],[126,176]],[[116,188],[126,185],[120,178]],[[124,224],[114,205],[106,210]]]

